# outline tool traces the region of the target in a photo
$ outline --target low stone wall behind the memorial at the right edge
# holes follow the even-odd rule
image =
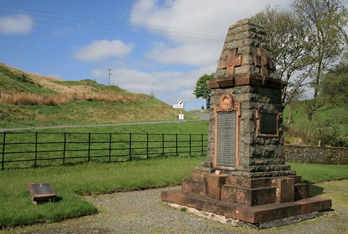
[[[286,162],[348,164],[348,148],[285,146]]]

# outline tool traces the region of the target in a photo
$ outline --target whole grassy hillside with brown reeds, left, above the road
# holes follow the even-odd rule
[[[0,127],[174,120],[175,110],[149,95],[85,79],[42,77],[0,63]],[[185,118],[196,118],[185,113]]]

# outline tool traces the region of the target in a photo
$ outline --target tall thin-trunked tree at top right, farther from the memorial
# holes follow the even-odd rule
[[[295,0],[294,13],[303,22],[308,31],[308,40],[312,42],[309,52],[310,64],[303,70],[302,77],[308,78],[313,88],[313,103],[308,111],[308,120],[322,103],[319,102],[319,84],[329,65],[342,52],[342,29],[347,25],[345,8],[340,0]]]

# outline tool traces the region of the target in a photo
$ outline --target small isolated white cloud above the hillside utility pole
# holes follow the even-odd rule
[[[79,61],[102,61],[107,58],[123,58],[132,52],[134,45],[121,40],[95,40],[86,47],[81,47],[74,54]]]

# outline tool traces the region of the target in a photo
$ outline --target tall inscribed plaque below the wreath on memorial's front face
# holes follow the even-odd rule
[[[216,166],[235,167],[237,111],[217,113]]]

